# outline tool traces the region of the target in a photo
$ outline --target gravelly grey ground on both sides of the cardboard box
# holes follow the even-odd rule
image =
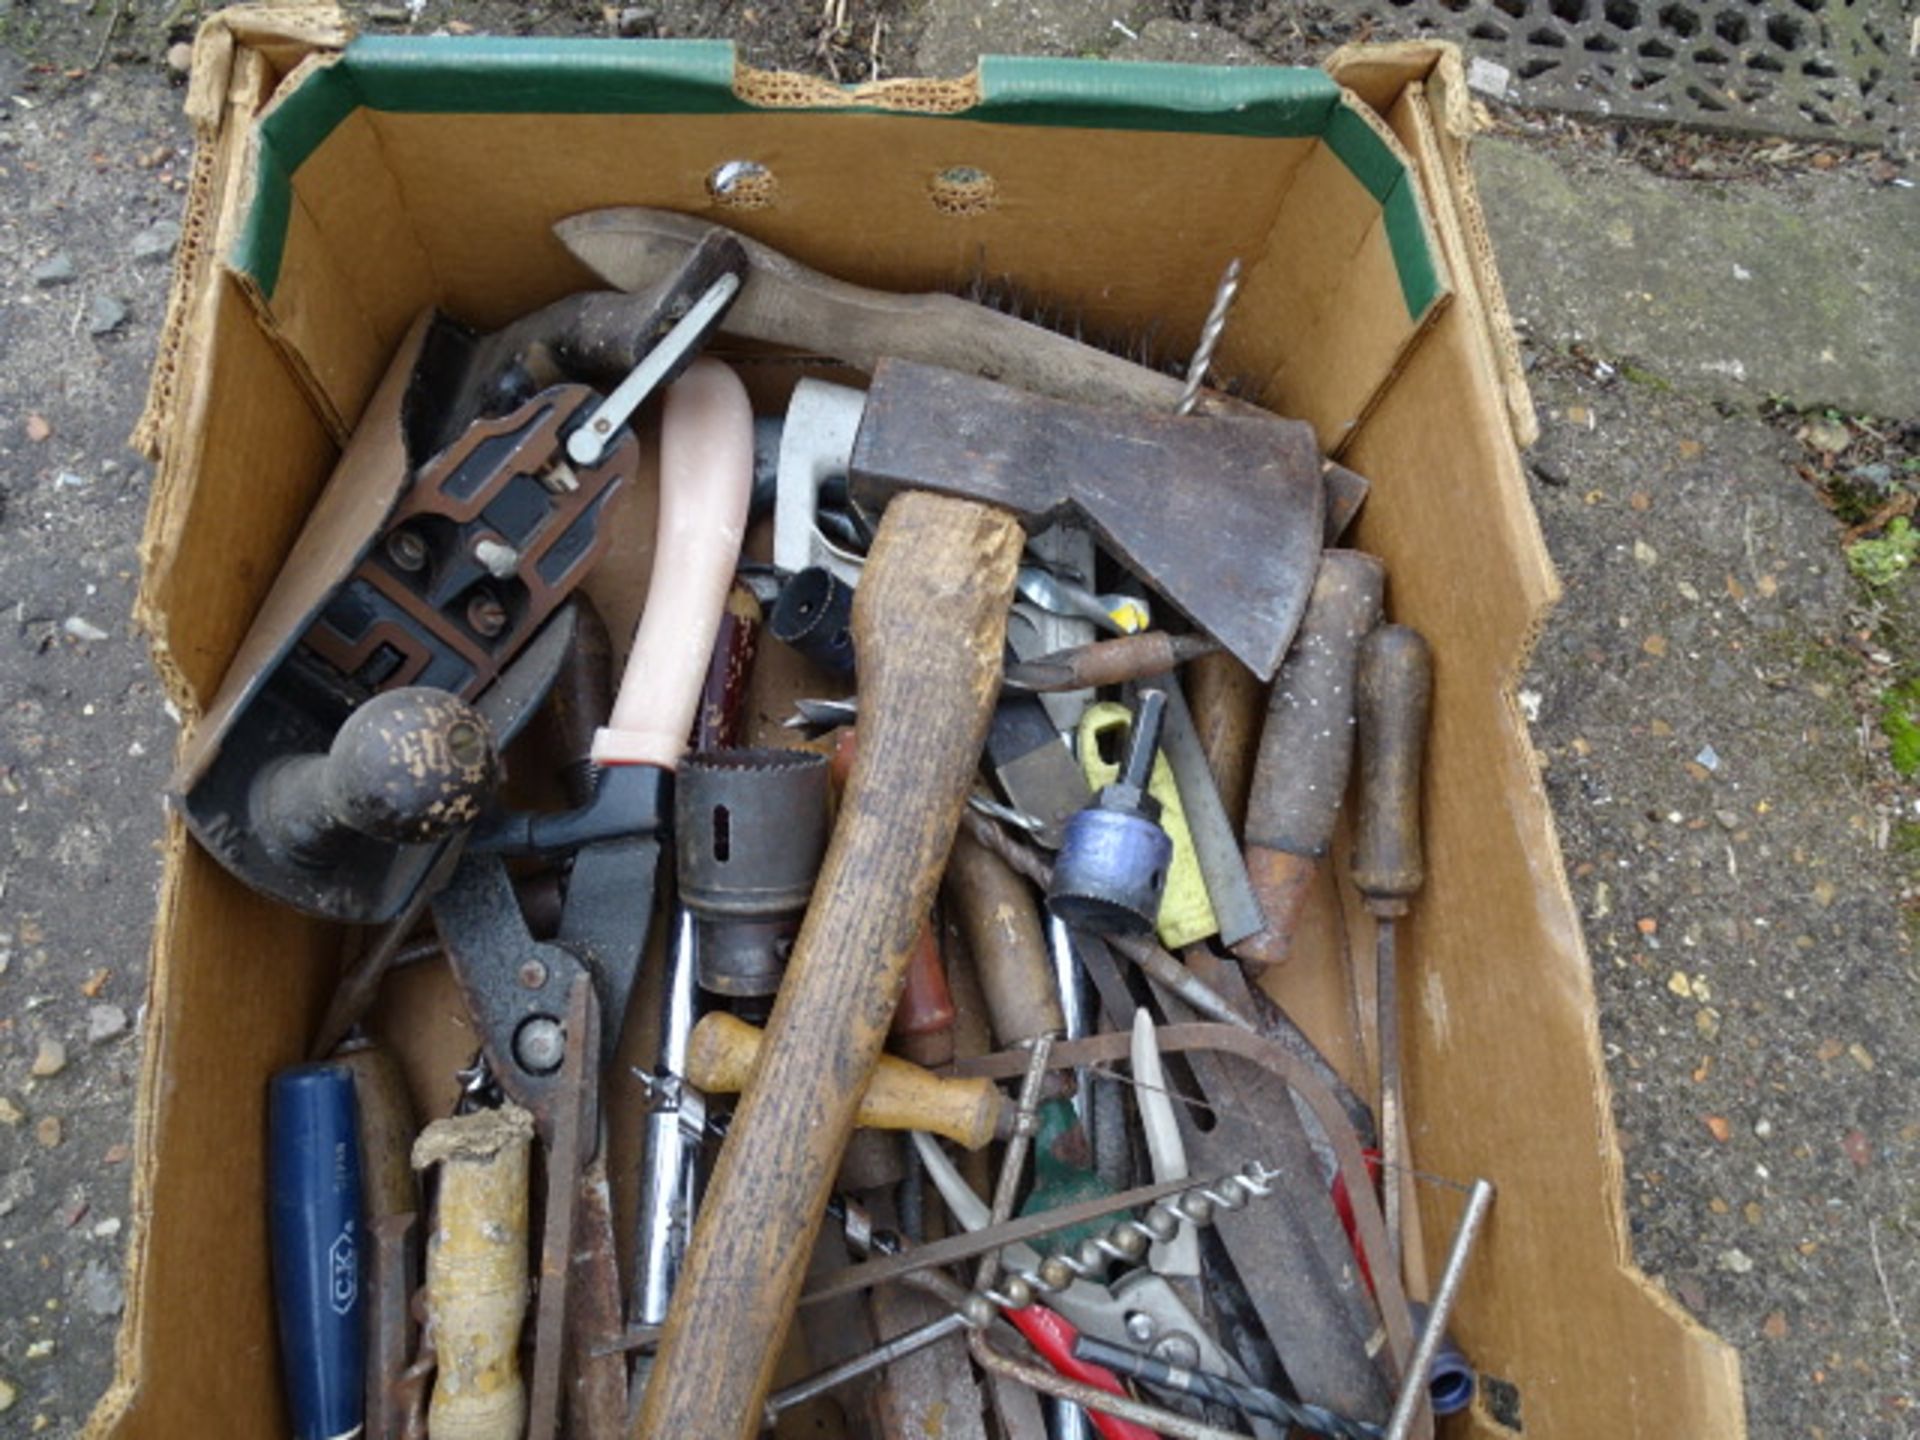
[[[864,79],[876,58],[912,71],[929,12],[952,4],[998,13],[849,0],[824,23],[810,2],[660,0],[628,23]],[[1100,48],[1300,60],[1344,38],[1313,6],[1210,8],[1227,29],[1140,12]],[[451,13],[434,0],[419,27]],[[148,472],[121,445],[165,298],[186,159],[165,54],[190,19],[0,0],[0,1434],[77,1430],[121,1306],[173,737],[127,622]],[[605,27],[597,4],[463,4],[459,21]],[[983,29],[979,48],[1006,46]],[[1701,146],[1628,134],[1620,154],[1580,150],[1582,184],[1692,167]],[[1755,184],[1768,175],[1738,165],[1711,179]],[[1816,207],[1818,190],[1780,204]],[[1824,396],[1763,413],[1567,336],[1534,334],[1528,355],[1536,499],[1569,603],[1526,695],[1594,954],[1638,1254],[1743,1350],[1755,1436],[1910,1434],[1920,831],[1878,714],[1916,628],[1897,586],[1870,595],[1847,570],[1857,486],[1816,484],[1870,442],[1841,424],[1834,455],[1836,434],[1795,413]],[[1899,474],[1866,509],[1899,499]]]

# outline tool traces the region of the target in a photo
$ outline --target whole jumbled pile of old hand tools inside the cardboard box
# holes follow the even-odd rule
[[[687,217],[559,232],[614,288],[415,324],[175,778],[363,937],[269,1092],[296,1436],[1430,1434],[1492,1198],[1428,1284],[1432,662],[1338,547],[1365,482],[1206,388],[1236,271],[1181,380]],[[1329,1058],[1271,981],[1340,962],[1350,789]],[[428,972],[457,1087],[376,1023]]]

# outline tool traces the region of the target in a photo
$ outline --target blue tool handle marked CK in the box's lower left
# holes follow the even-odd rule
[[[349,1440],[365,1411],[361,1158],[353,1077],[298,1066],[267,1091],[280,1369],[294,1440]]]

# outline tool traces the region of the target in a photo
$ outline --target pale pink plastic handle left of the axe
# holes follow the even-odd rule
[[[593,764],[672,770],[687,749],[753,492],[753,405],[726,365],[697,359],[660,411],[660,524],[612,716]]]

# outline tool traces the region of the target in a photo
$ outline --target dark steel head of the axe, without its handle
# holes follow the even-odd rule
[[[876,511],[937,490],[1008,509],[1029,534],[1079,515],[1261,680],[1321,549],[1319,447],[1298,420],[1098,409],[900,359],[874,371],[849,480]]]

